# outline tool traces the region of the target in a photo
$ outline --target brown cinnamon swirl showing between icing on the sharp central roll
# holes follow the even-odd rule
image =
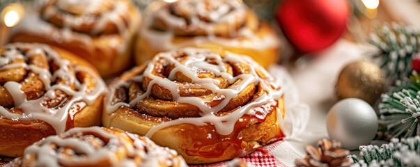
[[[178,62],[188,61],[189,59],[182,51],[176,52],[175,55],[173,55],[173,58]],[[233,78],[238,77],[241,74],[249,74],[251,70],[249,65],[244,62],[234,63],[227,61],[218,64],[214,59],[208,58],[205,59],[203,63],[223,66],[225,69],[224,72],[226,72],[225,74],[228,74]],[[224,95],[212,93],[212,90],[201,88],[200,84],[194,83],[186,74],[183,74],[180,71],[174,72],[176,69],[178,69],[178,67],[175,64],[170,63],[166,58],[161,57],[158,58],[154,64],[151,74],[175,82],[178,85],[177,91],[181,97],[199,97],[210,108],[219,105],[226,98]],[[195,72],[194,75],[199,79],[213,79],[216,82],[215,86],[219,89],[231,89],[242,83],[242,79],[238,79],[237,81],[234,81],[233,84],[229,84],[227,79],[217,76],[213,72],[200,69],[200,67],[192,67],[192,69]],[[141,75],[141,72],[137,73],[137,75]],[[258,77],[264,78],[265,75],[260,73],[258,74]],[[150,79],[150,77],[143,77],[141,82],[130,80],[127,81],[130,83],[128,86],[118,86],[116,91],[114,91],[114,96],[116,97],[114,102],[125,102],[129,104],[136,97],[146,93],[150,87],[150,95],[137,102],[133,108],[135,111],[145,113],[149,116],[166,118],[194,118],[203,116],[199,107],[194,104],[174,102],[171,90],[167,89],[166,86],[159,84],[150,86],[151,81],[153,81],[153,79]],[[249,84],[244,87],[237,97],[229,100],[223,108],[219,109],[219,111],[214,114],[226,115],[227,113],[231,113],[238,107],[253,102],[264,93],[265,90],[260,88],[259,84]],[[272,109],[267,111],[271,112]],[[267,115],[267,113],[264,114]]]

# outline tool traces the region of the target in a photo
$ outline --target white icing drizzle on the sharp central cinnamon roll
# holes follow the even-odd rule
[[[215,129],[217,133],[221,135],[228,135],[233,132],[233,128],[235,122],[237,122],[242,116],[245,114],[256,116],[258,110],[264,110],[264,104],[269,104],[270,106],[274,106],[277,104],[277,100],[283,95],[283,90],[278,85],[276,79],[270,77],[270,74],[260,67],[255,61],[252,61],[251,58],[247,56],[240,56],[237,54],[232,54],[226,51],[226,57],[221,58],[219,54],[212,52],[208,49],[194,49],[194,48],[184,48],[180,49],[180,51],[184,52],[188,58],[185,61],[177,61],[176,58],[173,57],[173,54],[176,51],[169,51],[169,52],[162,52],[157,54],[153,61],[148,63],[146,70],[144,70],[141,77],[137,77],[132,79],[133,81],[141,81],[143,77],[148,77],[152,79],[148,84],[148,88],[145,93],[139,95],[134,100],[127,104],[125,102],[118,102],[116,104],[112,104],[111,102],[105,102],[106,106],[105,109],[107,114],[112,114],[116,109],[121,106],[127,107],[134,107],[138,102],[143,100],[144,98],[150,95],[150,91],[154,84],[162,86],[167,90],[171,91],[171,95],[173,97],[173,102],[178,103],[185,103],[185,104],[192,104],[197,106],[201,110],[201,117],[200,118],[179,118],[176,120],[171,120],[169,122],[164,122],[160,125],[157,125],[150,129],[146,136],[151,137],[153,134],[164,127],[169,127],[171,125],[179,125],[183,123],[189,123],[193,125],[205,125],[206,122],[212,123],[215,125]],[[217,65],[205,62],[206,58],[211,58],[215,60]],[[155,69],[155,64],[160,61],[160,59],[164,59],[168,61],[169,64],[174,65],[171,74],[169,74],[169,79],[163,77],[157,77],[152,74],[153,70]],[[247,63],[249,64],[250,73],[249,74],[240,74],[236,77],[233,77],[231,74],[226,72],[226,68],[223,66],[224,62],[230,63]],[[256,68],[263,72],[267,79],[261,79],[258,77],[256,73]],[[215,74],[215,76],[224,77],[227,79],[229,84],[233,84],[235,81],[242,79],[239,84],[235,86],[231,86],[231,88],[219,88],[215,85],[216,79],[209,79],[209,78],[199,78],[196,76],[197,70],[207,70]],[[183,86],[182,84],[178,84],[175,81],[172,81],[173,75],[176,72],[182,72],[188,78],[192,79],[192,86],[196,86],[196,88],[205,88],[212,91],[213,95],[219,95],[224,97],[223,100],[216,106],[208,106],[205,101],[203,101],[200,97],[181,97],[180,93],[178,92],[179,88]],[[223,109],[228,102],[230,102],[233,98],[238,97],[238,94],[241,93],[244,88],[246,88],[249,84],[259,85],[263,90],[267,93],[263,94],[262,96],[258,97],[256,100],[241,106],[240,108],[236,109],[232,113],[227,114],[226,116],[215,116],[215,114]],[[118,86],[127,86],[127,82],[120,81],[117,84]],[[114,100],[114,93],[115,88],[111,90],[110,97],[108,100]],[[259,107],[259,108],[258,108]]]

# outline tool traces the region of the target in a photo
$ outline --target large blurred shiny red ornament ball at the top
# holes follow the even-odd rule
[[[275,11],[286,38],[304,53],[336,42],[345,30],[348,14],[345,0],[284,0]]]

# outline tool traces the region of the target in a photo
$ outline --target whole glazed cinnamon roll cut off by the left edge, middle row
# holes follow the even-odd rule
[[[72,127],[100,125],[107,90],[83,59],[47,45],[0,48],[0,155]]]

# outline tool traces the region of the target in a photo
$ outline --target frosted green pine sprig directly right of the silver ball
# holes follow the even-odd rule
[[[420,135],[420,76],[413,71],[410,79],[397,81],[396,87],[381,95],[379,133],[386,138]]]

